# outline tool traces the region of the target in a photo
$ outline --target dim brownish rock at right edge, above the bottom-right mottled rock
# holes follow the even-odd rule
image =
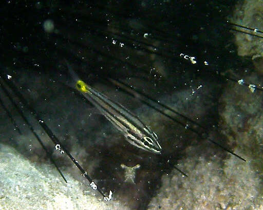
[[[256,73],[251,74],[246,81],[258,84],[262,81]],[[262,91],[244,91],[238,84],[228,84],[221,97],[221,124],[229,142],[245,154],[251,170],[262,176],[262,145],[263,145],[263,115]],[[262,188],[262,186],[261,186]]]

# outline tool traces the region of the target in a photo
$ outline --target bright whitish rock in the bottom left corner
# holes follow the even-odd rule
[[[65,173],[68,183],[48,164],[34,164],[14,148],[0,144],[0,209],[128,209],[105,202]]]

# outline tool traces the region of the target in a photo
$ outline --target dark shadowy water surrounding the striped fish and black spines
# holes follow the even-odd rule
[[[250,91],[242,86],[238,90],[233,88],[234,82],[227,78],[239,80],[252,75],[250,82],[254,84],[261,76],[257,72],[253,74],[250,56],[238,55],[234,35],[225,24],[237,4],[241,5],[242,1],[5,1],[1,8],[1,73],[12,75],[12,81],[23,96],[90,171],[90,176],[104,192],[113,189],[114,198],[130,209],[147,209],[147,206],[155,206],[149,203],[164,186],[162,177],[175,173],[177,163],[182,171],[186,169],[184,173],[194,177],[191,169],[187,170],[187,165],[183,164],[184,160],[198,164],[200,157],[213,164],[211,160],[216,156],[220,174],[224,160],[229,158],[226,151],[205,138],[200,139],[189,127],[209,133],[214,141],[231,150],[240,143],[229,137],[229,133],[235,131],[230,129],[226,119],[232,119],[231,113],[236,110],[226,111],[229,102],[226,92],[246,96]],[[183,59],[181,53],[195,56],[197,63]],[[65,61],[90,86],[135,112],[158,133],[164,154],[149,154],[128,144],[89,102],[67,86],[72,79]],[[204,61],[208,61],[208,67]],[[138,88],[193,119],[202,128],[161,108],[182,125],[167,119],[105,80],[108,78]],[[260,104],[260,93],[256,94]],[[37,165],[49,163],[3,91],[0,97],[23,133],[21,137],[13,130],[5,111],[1,110],[1,143],[16,148]],[[14,94],[12,97],[19,101]],[[237,119],[236,126],[240,128],[238,131],[249,132],[253,114],[241,112],[242,125]],[[30,111],[24,109],[24,113],[44,137],[63,171],[85,183],[68,158],[54,151],[54,145]],[[260,142],[253,148],[259,152],[257,145]],[[239,146],[239,153],[242,151],[249,156],[242,148]],[[125,182],[121,164],[140,164],[136,184]],[[181,174],[177,171],[176,176]],[[185,196],[194,197],[191,193]],[[165,204],[156,205],[170,209]],[[225,209],[232,203],[218,206]]]

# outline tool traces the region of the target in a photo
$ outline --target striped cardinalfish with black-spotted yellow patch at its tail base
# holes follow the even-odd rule
[[[79,79],[76,72],[68,64],[67,66],[74,80],[75,88],[123,133],[130,144],[155,154],[161,154],[162,147],[154,131],[124,106],[112,101],[98,90],[87,85]]]

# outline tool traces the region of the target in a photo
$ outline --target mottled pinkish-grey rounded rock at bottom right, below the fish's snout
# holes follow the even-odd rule
[[[176,170],[164,175],[148,209],[263,209],[260,179],[250,162],[234,156],[225,161],[217,155],[205,158],[213,151],[210,147],[202,144],[188,148],[188,157],[179,167],[189,177],[180,176]]]

